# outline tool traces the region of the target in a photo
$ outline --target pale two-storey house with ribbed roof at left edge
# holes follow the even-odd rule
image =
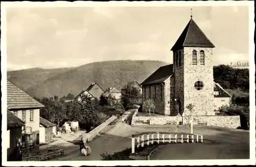
[[[39,149],[39,109],[45,107],[7,81],[7,109],[25,122],[22,129],[22,156]]]

